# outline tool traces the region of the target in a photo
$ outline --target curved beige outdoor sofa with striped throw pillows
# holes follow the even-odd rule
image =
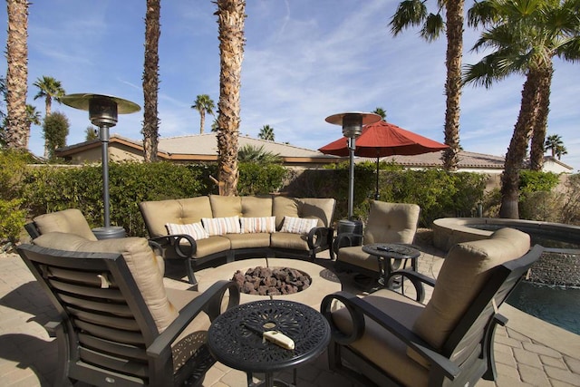
[[[189,282],[194,269],[210,261],[241,256],[301,257],[333,245],[333,198],[209,195],[144,201],[139,205],[150,240],[166,259],[185,260]]]

